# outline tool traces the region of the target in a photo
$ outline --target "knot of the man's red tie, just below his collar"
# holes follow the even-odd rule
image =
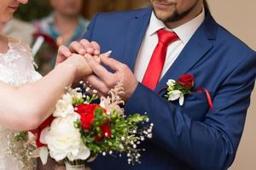
[[[177,34],[172,31],[166,31],[164,29],[160,29],[157,31],[158,40],[159,42],[162,42],[168,46],[171,42],[174,42],[177,40]]]

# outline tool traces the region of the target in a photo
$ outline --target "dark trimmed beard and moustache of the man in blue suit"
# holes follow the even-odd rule
[[[156,1],[156,2],[162,2],[162,3],[175,3],[175,2],[176,2],[176,0],[152,0],[152,2],[154,2],[154,1]],[[185,11],[184,11],[183,13],[181,13],[181,14],[179,14],[179,13],[177,12],[177,8],[175,8],[174,12],[173,12],[170,16],[168,16],[166,19],[159,18],[159,17],[157,16],[157,14],[156,14],[154,8],[153,8],[153,10],[154,10],[154,15],[156,16],[156,18],[157,18],[158,20],[161,20],[161,21],[163,21],[164,23],[176,22],[176,21],[178,21],[178,20],[182,20],[184,17],[186,17],[188,14],[190,14],[191,11],[196,7],[197,3],[199,3],[199,0],[197,0],[197,1],[195,2],[195,4],[193,4],[190,8],[188,8],[187,10],[185,10]]]

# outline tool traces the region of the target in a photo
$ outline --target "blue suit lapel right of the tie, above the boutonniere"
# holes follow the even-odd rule
[[[212,19],[211,14],[206,14],[206,19],[202,25],[195,31],[195,34],[170,69],[166,72],[165,76],[161,78],[158,86],[154,89],[159,92],[160,89],[166,87],[168,79],[177,80],[178,77],[187,73],[205,54],[212,48],[213,41],[216,37],[217,24]]]

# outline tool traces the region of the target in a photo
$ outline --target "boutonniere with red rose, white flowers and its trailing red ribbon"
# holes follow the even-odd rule
[[[181,77],[177,79],[177,82],[175,80],[169,79],[168,82],[166,82],[167,88],[162,88],[158,94],[160,94],[163,91],[167,91],[164,97],[168,99],[169,101],[177,100],[179,101],[179,105],[183,105],[184,103],[184,96],[186,94],[191,94],[191,89],[195,86],[195,77],[190,74],[183,74]],[[207,95],[207,102],[211,110],[213,110],[212,105],[212,98],[207,90],[207,88],[196,88],[195,92],[201,93],[205,92]]]

